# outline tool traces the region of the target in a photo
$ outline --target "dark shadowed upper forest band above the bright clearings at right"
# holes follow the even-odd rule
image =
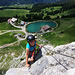
[[[61,3],[61,4],[45,4],[45,3],[37,3],[34,4],[31,11],[30,12],[40,12],[41,9],[44,8],[49,8],[49,7],[55,7],[55,6],[62,6],[62,8],[60,9],[60,11],[66,11],[72,8],[75,8],[75,2],[70,2],[70,3]]]

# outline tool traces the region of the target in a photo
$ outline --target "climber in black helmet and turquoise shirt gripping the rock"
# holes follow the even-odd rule
[[[34,61],[36,45],[40,48],[42,48],[42,46],[36,43],[34,35],[28,35],[27,42],[28,43],[26,45],[26,67],[29,67],[30,65],[28,64],[28,62]]]

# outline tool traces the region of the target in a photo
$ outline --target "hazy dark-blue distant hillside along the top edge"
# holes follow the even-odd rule
[[[0,6],[9,6],[14,4],[35,4],[35,3],[65,3],[75,0],[0,0]]]

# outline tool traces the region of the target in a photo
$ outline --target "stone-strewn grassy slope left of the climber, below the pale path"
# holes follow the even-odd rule
[[[10,63],[10,61],[13,60],[13,57],[19,58],[19,56],[22,55],[23,51],[25,51],[26,44],[27,44],[26,40],[21,41],[19,46],[17,44],[18,43],[16,43],[14,46],[10,46],[10,47],[0,49],[0,56],[2,56],[2,58],[0,59],[0,63],[2,63],[3,60],[6,58],[6,60],[4,62],[6,64],[4,64],[4,63],[1,64],[1,70],[9,69],[10,65],[12,65],[12,63]],[[12,56],[12,53],[14,53],[13,56]],[[7,57],[6,57],[6,55],[7,55]],[[17,62],[17,60],[15,60],[15,61]],[[3,65],[4,65],[4,67],[2,68]]]

